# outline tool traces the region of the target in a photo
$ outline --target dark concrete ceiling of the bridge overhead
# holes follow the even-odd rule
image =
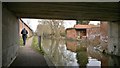
[[[105,21],[120,19],[118,2],[4,2],[3,4],[16,16],[23,18]]]

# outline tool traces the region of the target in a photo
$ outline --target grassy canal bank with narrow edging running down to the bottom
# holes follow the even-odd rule
[[[47,65],[49,66],[49,68],[55,68],[54,64],[51,62],[50,58],[46,55],[46,53],[44,52],[42,46],[42,37],[40,36],[34,36],[33,37],[33,41],[32,41],[32,45],[31,48],[39,53],[40,55],[42,55],[47,63]]]

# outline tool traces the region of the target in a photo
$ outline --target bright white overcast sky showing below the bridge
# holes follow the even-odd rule
[[[29,19],[29,18],[22,18],[22,20],[35,32],[38,23],[38,19]],[[90,21],[90,24],[97,25],[100,21]],[[75,20],[64,20],[65,28],[71,28],[76,24]]]

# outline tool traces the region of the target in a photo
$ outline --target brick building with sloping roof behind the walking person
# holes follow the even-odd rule
[[[21,31],[23,28],[25,28],[28,31],[27,37],[33,36],[33,30],[20,19],[19,20],[19,35],[20,36],[22,36]]]

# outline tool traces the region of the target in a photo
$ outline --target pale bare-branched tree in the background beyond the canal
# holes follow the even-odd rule
[[[60,37],[62,32],[64,33],[65,28],[63,20],[48,20],[44,19],[39,21],[37,26],[38,35],[51,35],[52,37]]]

